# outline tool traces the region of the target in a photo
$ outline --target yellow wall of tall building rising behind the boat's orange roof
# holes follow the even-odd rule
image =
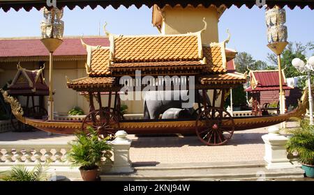
[[[203,18],[207,22],[207,30],[202,33],[202,43],[218,42],[218,11],[214,7],[204,8],[176,6],[163,8],[165,18],[161,27],[163,34],[179,34],[200,31],[204,28]]]

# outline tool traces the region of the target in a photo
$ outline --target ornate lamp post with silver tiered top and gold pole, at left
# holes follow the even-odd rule
[[[50,54],[48,119],[54,120],[54,99],[52,94],[53,53],[63,42],[63,40],[61,40],[64,26],[63,21],[61,20],[63,10],[59,10],[58,8],[51,8],[50,10],[47,10],[47,8],[43,8],[43,15],[45,19],[40,24],[42,36],[41,42],[43,42],[43,45],[45,45]]]

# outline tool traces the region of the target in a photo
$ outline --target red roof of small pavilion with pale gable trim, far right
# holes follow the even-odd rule
[[[283,70],[282,70],[283,72]],[[279,74],[278,70],[251,70],[250,84],[246,91],[274,91],[279,90]],[[287,86],[285,72],[282,73],[283,89],[291,89]]]

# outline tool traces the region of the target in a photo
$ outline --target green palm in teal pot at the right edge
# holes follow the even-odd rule
[[[287,151],[297,153],[306,176],[314,178],[314,126],[308,121],[301,120],[300,128],[290,131],[292,134],[287,141]]]

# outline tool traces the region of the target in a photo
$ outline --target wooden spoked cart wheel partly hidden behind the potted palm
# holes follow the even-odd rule
[[[89,126],[98,132],[100,138],[110,137],[110,139],[114,139],[114,133],[119,129],[119,120],[114,112],[98,109],[91,111],[84,118],[82,130],[87,132]]]

